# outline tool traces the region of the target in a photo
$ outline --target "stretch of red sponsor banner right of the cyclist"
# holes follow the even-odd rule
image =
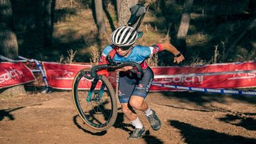
[[[244,74],[221,74],[218,72],[256,70],[255,62],[244,63],[221,63],[204,65],[200,67],[153,67],[155,78],[154,83],[168,84],[174,86],[188,86],[195,88],[252,88],[256,86],[256,73]],[[175,74],[196,74],[216,72],[215,76],[173,76]],[[166,78],[166,77],[170,78]],[[173,88],[152,85],[152,91],[169,91]],[[185,90],[185,88],[184,88]]]

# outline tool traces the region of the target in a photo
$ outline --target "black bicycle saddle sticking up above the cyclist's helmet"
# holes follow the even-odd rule
[[[144,6],[143,4],[136,4],[130,8],[131,17],[128,20],[128,26],[132,26],[136,31],[140,28],[140,24],[147,13],[149,4]],[[143,35],[141,31],[141,36]]]

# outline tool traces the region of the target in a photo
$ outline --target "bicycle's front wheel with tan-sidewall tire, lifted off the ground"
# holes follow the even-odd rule
[[[85,124],[92,127],[92,129],[96,131],[106,131],[115,123],[117,116],[117,101],[115,91],[108,78],[106,76],[100,76],[98,83],[101,82],[105,85],[102,99],[98,99],[99,90],[95,89],[93,91],[92,99],[97,100],[87,102],[87,93],[90,90],[88,90],[88,88],[83,88],[83,83],[86,83],[88,84],[87,86],[90,86],[90,83],[92,82],[90,82],[90,80],[88,81],[88,79],[83,76],[81,73],[82,71],[85,73],[88,72],[87,74],[89,75],[90,68],[84,68],[83,70],[80,70],[74,78],[72,84],[72,96],[74,105],[79,116],[83,119]],[[84,97],[84,93],[86,94],[86,97]],[[87,106],[84,107],[85,105]],[[91,106],[91,108],[88,108],[88,106]]]

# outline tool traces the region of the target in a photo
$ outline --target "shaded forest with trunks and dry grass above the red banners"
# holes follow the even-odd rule
[[[136,44],[171,42],[185,55],[181,65],[256,58],[255,0],[1,0],[0,54],[97,64],[135,3],[150,4]],[[172,54],[161,52],[148,63],[167,66],[172,60]]]

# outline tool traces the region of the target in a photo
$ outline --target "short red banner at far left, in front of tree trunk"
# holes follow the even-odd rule
[[[23,63],[0,63],[0,89],[35,80],[31,70]]]

